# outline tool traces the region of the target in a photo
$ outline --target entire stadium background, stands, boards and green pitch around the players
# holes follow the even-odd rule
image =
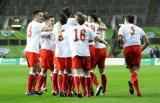
[[[29,69],[25,65],[24,47],[26,26],[32,18],[32,11],[42,9],[57,18],[61,9],[69,6],[72,16],[76,11],[86,14],[96,13],[107,25],[106,39],[111,44],[115,57],[108,58],[107,96],[92,98],[60,98],[50,94],[51,83],[48,79],[48,92],[44,96],[26,97]],[[122,23],[122,16],[133,14],[137,25],[149,36],[150,45],[143,53],[140,71],[140,85],[143,96],[137,98],[128,93],[129,73],[124,69],[123,54],[114,46],[116,23]],[[0,0],[0,103],[159,103],[160,97],[160,59],[149,57],[152,47],[160,48],[160,0]],[[22,64],[21,66],[19,64]],[[122,66],[121,66],[122,65]],[[96,69],[98,79],[100,75]]]

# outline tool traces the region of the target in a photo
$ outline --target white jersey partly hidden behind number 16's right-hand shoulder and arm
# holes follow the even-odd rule
[[[85,22],[84,25],[90,29],[92,29],[95,33],[97,33],[97,30],[99,29],[99,25],[97,23],[89,23],[89,22]],[[94,41],[90,42],[89,45],[95,45]]]

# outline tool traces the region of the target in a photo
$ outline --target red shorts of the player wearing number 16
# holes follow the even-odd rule
[[[72,58],[72,68],[90,70],[91,69],[91,58],[89,56],[88,57],[80,57],[80,56],[73,57]]]

